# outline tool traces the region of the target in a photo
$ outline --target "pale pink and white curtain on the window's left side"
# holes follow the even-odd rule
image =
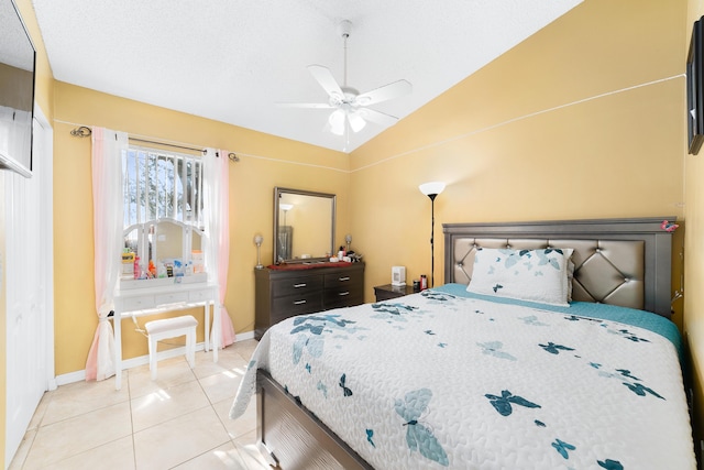
[[[120,270],[122,242],[122,159],[124,132],[92,128],[92,217],[95,293],[98,327],[86,360],[86,380],[114,375],[114,336],[109,314]]]

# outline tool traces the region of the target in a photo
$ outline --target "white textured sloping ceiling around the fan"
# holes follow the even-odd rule
[[[337,151],[330,110],[306,68],[360,92],[406,79],[413,92],[371,108],[414,112],[582,0],[33,0],[57,80]],[[92,124],[91,122],[85,124]]]

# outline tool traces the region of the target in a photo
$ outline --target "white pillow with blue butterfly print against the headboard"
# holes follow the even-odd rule
[[[573,249],[479,249],[468,292],[569,307]]]

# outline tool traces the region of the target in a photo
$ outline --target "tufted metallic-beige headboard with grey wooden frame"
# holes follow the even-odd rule
[[[443,223],[444,282],[468,284],[482,248],[573,248],[572,298],[654,311],[670,318],[672,236],[662,220]]]

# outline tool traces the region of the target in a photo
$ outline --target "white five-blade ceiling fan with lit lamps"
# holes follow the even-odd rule
[[[367,108],[370,105],[386,101],[392,98],[409,94],[413,86],[407,80],[397,80],[371,91],[360,94],[356,89],[348,86],[348,37],[352,23],[344,20],[340,23],[340,34],[344,41],[344,80],[342,86],[332,76],[332,73],[322,65],[309,65],[308,70],[322,89],[328,94],[328,102],[290,102],[279,103],[289,108],[312,108],[312,109],[334,109],[328,118],[330,132],[336,135],[343,135],[348,129],[359,132],[366,125],[366,122],[374,122],[380,125],[392,125],[398,121],[395,116]]]

